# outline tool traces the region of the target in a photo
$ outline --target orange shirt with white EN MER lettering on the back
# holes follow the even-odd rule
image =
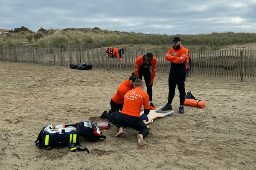
[[[142,105],[144,109],[149,109],[149,96],[140,87],[134,88],[125,94],[124,107],[121,113],[140,117]]]

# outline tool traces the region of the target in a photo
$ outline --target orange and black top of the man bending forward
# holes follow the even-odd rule
[[[157,70],[157,59],[155,57],[152,58],[151,62],[149,64],[146,64],[145,62],[145,57],[140,56],[136,59],[134,63],[134,72],[135,74],[139,77],[139,70],[140,69],[148,69],[149,67],[152,66],[151,68],[151,83],[154,82],[154,77],[156,75],[156,70]]]

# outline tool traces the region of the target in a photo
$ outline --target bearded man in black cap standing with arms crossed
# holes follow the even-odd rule
[[[166,60],[171,62],[171,70],[169,74],[169,94],[168,103],[162,108],[163,111],[172,110],[172,100],[175,95],[176,85],[180,92],[180,108],[179,113],[184,113],[184,101],[186,97],[185,81],[186,81],[186,59],[188,50],[181,46],[180,38],[174,37],[172,40],[172,48],[166,54]]]

